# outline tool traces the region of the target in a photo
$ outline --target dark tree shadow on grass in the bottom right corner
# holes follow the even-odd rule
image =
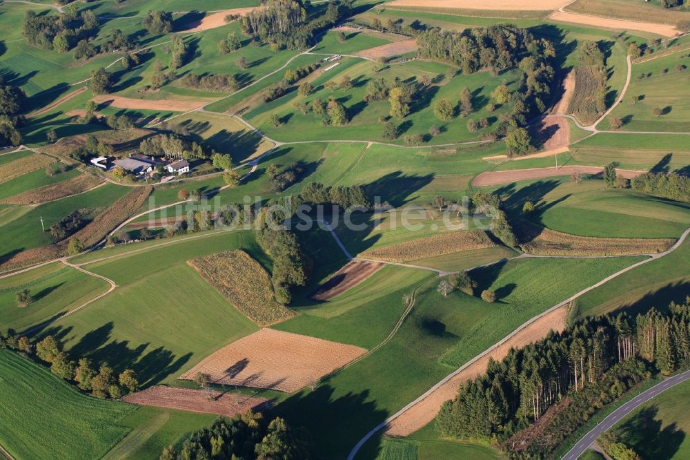
[[[656,418],[658,413],[658,405],[650,405],[617,429],[622,433],[622,441],[643,459],[671,459],[685,439],[685,432],[676,422],[662,428],[663,421]]]

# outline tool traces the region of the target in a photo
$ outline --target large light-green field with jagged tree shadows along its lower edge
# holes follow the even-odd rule
[[[251,233],[235,232],[90,264],[90,271],[119,287],[42,333],[63,338],[73,356],[88,355],[116,369],[133,367],[145,385],[170,381],[257,329],[186,264],[239,248],[261,254]]]

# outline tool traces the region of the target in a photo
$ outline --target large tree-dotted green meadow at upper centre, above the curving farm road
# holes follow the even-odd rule
[[[317,70],[320,72],[320,70]],[[486,111],[486,104],[493,88],[501,84],[506,79],[511,87],[517,81],[517,72],[507,70],[497,77],[491,77],[489,73],[475,73],[472,75],[462,75],[451,77],[454,69],[438,63],[425,61],[411,61],[397,66],[383,66],[370,61],[361,59],[344,58],[339,66],[328,70],[319,75],[312,85],[315,91],[308,96],[301,96],[297,91],[292,91],[288,95],[276,99],[273,102],[255,108],[246,114],[248,120],[264,131],[269,137],[281,141],[302,141],[302,140],[382,140],[384,123],[380,122],[381,117],[388,117],[390,104],[387,100],[366,103],[364,94],[366,84],[374,78],[382,77],[392,82],[395,77],[406,82],[415,82],[421,75],[428,75],[435,79],[436,84],[431,84],[426,88],[420,88],[418,94],[413,98],[411,104],[411,114],[405,119],[393,119],[395,124],[400,125],[403,135],[420,134],[427,135],[432,125],[438,126],[442,133],[433,137],[428,142],[432,144],[444,144],[449,142],[462,142],[476,140],[478,134],[470,133],[467,129],[467,119],[455,117],[450,122],[442,122],[433,115],[433,104],[437,99],[446,97],[455,102],[457,95],[464,87],[470,88],[473,93],[473,104],[475,111],[468,118],[478,120],[486,117],[496,121],[500,113],[505,108],[498,109],[495,113]],[[327,82],[336,84],[344,76],[350,77],[354,86],[350,89],[338,88],[331,90],[324,86]],[[440,80],[442,78],[442,80]],[[296,111],[293,103],[311,104],[314,99],[321,98],[327,100],[335,97],[344,104],[348,119],[350,121],[344,126],[324,126],[320,115]],[[281,126],[270,124],[270,116],[278,115],[283,120]],[[480,131],[489,131],[490,127]],[[308,133],[308,138],[305,135]],[[397,143],[402,143],[402,136]]]

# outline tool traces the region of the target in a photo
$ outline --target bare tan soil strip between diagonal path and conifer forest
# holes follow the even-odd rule
[[[562,331],[565,328],[566,312],[566,307],[560,307],[553,310],[553,312],[542,316],[542,318],[522,329],[522,331],[515,334],[515,336],[510,338],[509,341],[506,341],[506,343],[496,347],[489,354],[482,356],[482,358],[478,359],[466,367],[462,372],[456,374],[453,378],[449,379],[449,381],[446,381],[446,383],[438,387],[435,392],[429,394],[422,401],[413,405],[409,410],[400,414],[400,416],[388,425],[386,434],[390,436],[407,436],[424,427],[424,425],[434,419],[444,402],[455,397],[457,388],[460,387],[461,383],[471,378],[476,378],[486,372],[486,365],[489,364],[489,358],[500,361],[508,354],[512,347],[524,347],[524,345],[538,341],[544,338],[551,329]]]

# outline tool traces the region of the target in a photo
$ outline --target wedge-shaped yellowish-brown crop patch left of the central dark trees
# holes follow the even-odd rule
[[[270,325],[294,315],[275,300],[264,267],[242,250],[210,254],[188,263],[228,302],[259,325]]]

